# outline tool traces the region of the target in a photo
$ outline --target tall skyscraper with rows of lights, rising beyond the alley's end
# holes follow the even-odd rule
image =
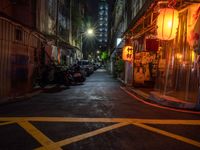
[[[108,3],[106,0],[99,2],[97,40],[98,49],[105,51],[108,43]]]

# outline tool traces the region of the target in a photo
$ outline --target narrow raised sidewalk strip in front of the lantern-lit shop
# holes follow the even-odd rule
[[[139,96],[143,100],[158,104],[161,106],[166,106],[170,108],[184,109],[184,110],[194,110],[200,111],[200,105],[190,102],[186,102],[175,97],[162,95],[161,93],[154,91],[150,88],[134,88],[131,86],[124,86],[126,90],[133,93],[134,95]]]

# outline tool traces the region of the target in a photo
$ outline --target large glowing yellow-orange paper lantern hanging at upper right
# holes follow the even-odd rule
[[[178,28],[178,11],[173,8],[162,8],[157,19],[157,38],[171,40],[176,37]]]

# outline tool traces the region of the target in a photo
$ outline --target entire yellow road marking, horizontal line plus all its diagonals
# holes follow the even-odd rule
[[[144,128],[146,130],[162,134],[173,139],[183,141],[185,143],[200,147],[200,142],[179,136],[164,130],[150,127],[145,124],[173,124],[173,125],[200,125],[200,120],[175,120],[175,119],[137,119],[137,118],[72,118],[72,117],[2,117],[0,118],[0,125],[7,125],[12,123],[18,123],[22,128],[24,128],[30,135],[32,135],[37,141],[42,144],[42,147],[38,150],[57,150],[61,149],[62,146],[71,144],[73,142],[78,142],[86,138],[116,129],[128,124],[133,124],[138,127]],[[40,130],[34,127],[29,121],[37,122],[95,122],[95,123],[117,123],[111,126],[107,126],[95,131],[84,133],[75,137],[71,137],[59,142],[53,142],[46,135],[44,135]]]

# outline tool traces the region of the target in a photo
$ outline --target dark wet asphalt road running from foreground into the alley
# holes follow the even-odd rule
[[[59,143],[67,138],[82,135],[97,129],[104,129],[116,123],[106,122],[106,118],[126,119],[165,119],[200,120],[200,115],[164,110],[143,104],[127,95],[120,89],[120,83],[104,70],[98,70],[83,85],[70,88],[52,88],[32,98],[0,106],[0,118],[3,117],[36,117],[36,121],[28,121],[41,131],[53,143]],[[37,121],[37,117],[79,118],[78,122]],[[104,118],[101,122],[81,120],[81,118]],[[1,120],[2,121],[2,120]],[[15,120],[16,121],[16,120]],[[0,123],[5,123],[2,121]],[[17,122],[17,121],[16,121]],[[66,150],[143,150],[143,149],[177,149],[195,150],[200,144],[200,124],[148,124],[150,127],[173,133],[162,135],[161,131],[152,132],[148,127],[125,125],[107,132],[95,132],[96,135],[86,138],[86,135],[75,137],[75,141],[63,142],[60,146]],[[42,144],[44,137],[31,136],[33,130],[27,124],[0,124],[0,150],[35,149]],[[104,129],[106,130],[106,129]],[[152,129],[153,130],[153,129]],[[31,133],[32,132],[32,133]],[[175,135],[182,137],[176,139]],[[189,140],[188,140],[189,139]],[[192,140],[192,142],[189,142]],[[196,142],[196,143],[195,143]],[[51,147],[52,148],[52,147]],[[47,148],[47,149],[50,149]],[[56,149],[56,148],[52,148]]]

